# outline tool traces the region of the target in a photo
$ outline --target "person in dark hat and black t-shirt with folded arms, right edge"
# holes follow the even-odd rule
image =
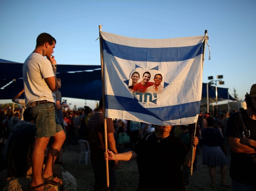
[[[227,120],[226,137],[231,148],[230,177],[233,191],[256,190],[256,84],[246,93],[247,109]]]

